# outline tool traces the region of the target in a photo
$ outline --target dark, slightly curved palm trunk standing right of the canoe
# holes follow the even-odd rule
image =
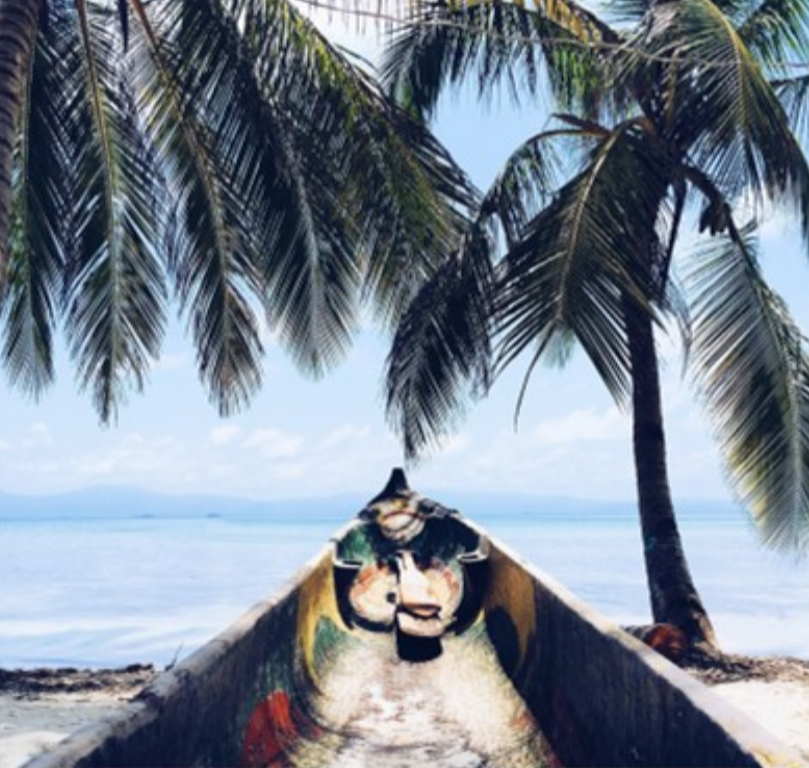
[[[674,624],[691,646],[716,635],[683,551],[666,464],[666,437],[653,321],[627,302],[632,362],[633,449],[646,577],[655,622]]]

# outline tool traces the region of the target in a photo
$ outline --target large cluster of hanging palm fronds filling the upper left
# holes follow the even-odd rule
[[[223,414],[262,383],[262,316],[320,374],[361,299],[393,322],[471,194],[287,0],[0,0],[2,355],[34,395],[63,328],[114,419],[172,297]]]

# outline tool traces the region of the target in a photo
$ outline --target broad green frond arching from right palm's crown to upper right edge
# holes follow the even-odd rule
[[[710,0],[654,4],[631,47],[636,51],[627,61],[636,84],[652,89],[645,98],[660,104],[667,136],[691,162],[726,197],[752,190],[759,201],[768,196],[790,203],[809,227],[806,160],[758,61],[728,18]]]

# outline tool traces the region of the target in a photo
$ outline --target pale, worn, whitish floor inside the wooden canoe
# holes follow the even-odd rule
[[[273,749],[248,763],[274,764],[283,753],[280,762],[300,768],[555,764],[490,647],[452,638],[418,663],[398,658],[389,638],[366,639],[336,660],[306,715],[286,718],[280,739],[256,730],[256,745]]]

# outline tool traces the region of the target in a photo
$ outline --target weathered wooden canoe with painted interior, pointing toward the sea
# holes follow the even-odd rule
[[[397,470],[280,595],[28,765],[801,764]]]

